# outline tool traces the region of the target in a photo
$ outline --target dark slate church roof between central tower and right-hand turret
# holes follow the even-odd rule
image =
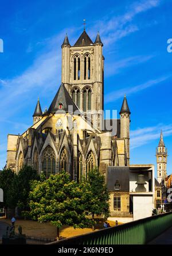
[[[109,131],[108,127],[109,126],[112,127],[112,125],[114,126],[113,131],[111,128],[112,136],[116,135],[118,138],[120,138],[120,119],[105,119],[103,131],[108,132]]]

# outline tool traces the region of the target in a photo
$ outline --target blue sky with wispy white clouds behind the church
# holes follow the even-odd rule
[[[131,110],[131,163],[154,163],[161,129],[172,170],[172,1],[0,0],[0,169],[7,134],[24,132],[40,97],[50,105],[61,81],[61,44],[86,31],[104,43],[105,109],[117,109],[127,94]]]

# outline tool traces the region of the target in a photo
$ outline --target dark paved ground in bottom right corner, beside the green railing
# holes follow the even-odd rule
[[[148,244],[172,244],[172,227]]]

